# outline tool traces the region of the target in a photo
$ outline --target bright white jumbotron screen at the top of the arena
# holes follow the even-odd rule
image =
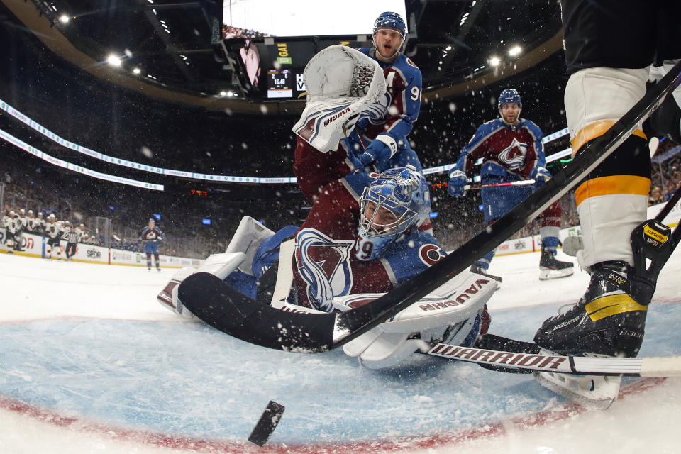
[[[223,0],[224,38],[371,35],[384,11],[406,21],[404,0]]]

